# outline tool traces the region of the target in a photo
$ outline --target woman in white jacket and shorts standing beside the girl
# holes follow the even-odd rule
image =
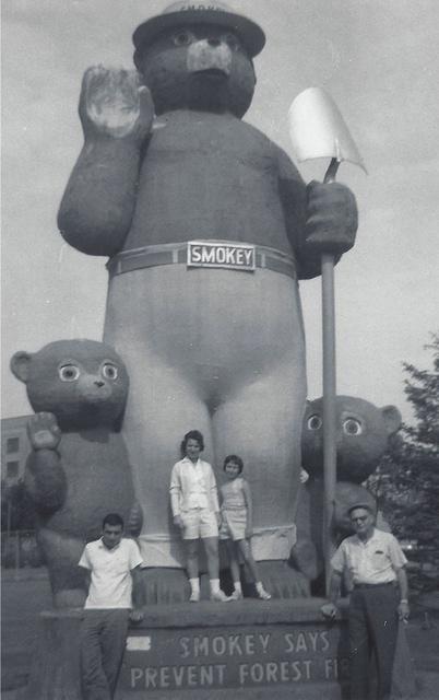
[[[200,537],[207,559],[211,600],[229,600],[220,588],[220,503],[213,469],[209,462],[200,459],[203,450],[203,435],[198,430],[189,431],[181,443],[185,457],[174,465],[169,488],[174,523],[181,530],[186,548],[191,603],[200,600]]]

